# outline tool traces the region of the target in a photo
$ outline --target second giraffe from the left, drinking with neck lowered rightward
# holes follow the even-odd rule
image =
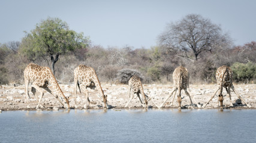
[[[87,88],[91,88],[91,89],[97,88],[98,93],[103,98],[102,99],[103,107],[109,108],[109,106],[107,105],[107,95],[104,95],[103,89],[101,88],[101,83],[97,77],[97,74],[96,74],[96,71],[94,70],[94,68],[80,64],[78,67],[76,67],[76,69],[74,69],[75,108],[77,108],[77,99],[76,99],[77,98],[77,86],[79,87],[80,93],[81,93],[80,86],[81,86],[82,90],[85,91],[87,100],[85,102],[84,108],[87,108],[87,104],[88,104],[88,102],[90,102],[90,100],[88,98],[89,92],[88,92]]]

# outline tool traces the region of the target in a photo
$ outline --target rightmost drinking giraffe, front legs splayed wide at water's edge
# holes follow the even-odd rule
[[[230,106],[233,106],[233,103],[231,101],[231,94],[230,94],[230,88],[234,91],[234,93],[237,95],[237,97],[242,100],[243,102],[245,102],[241,97],[240,95],[237,94],[237,92],[235,91],[234,89],[234,85],[232,83],[232,76],[233,76],[233,71],[231,70],[230,67],[228,66],[221,66],[217,69],[216,71],[216,80],[217,80],[217,83],[218,83],[218,87],[215,91],[215,94],[219,91],[218,93],[218,105],[219,103],[221,104],[221,107],[223,106],[223,100],[225,96],[222,95],[222,89],[225,88],[227,93],[229,94],[230,96]],[[212,97],[210,98],[209,101],[206,102],[206,104],[203,105],[203,108],[206,107],[206,105],[212,100],[212,98],[215,96],[212,95]],[[248,107],[251,107],[251,105],[248,105],[246,102],[245,104],[248,106]]]

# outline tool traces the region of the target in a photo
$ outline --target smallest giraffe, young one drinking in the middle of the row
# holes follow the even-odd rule
[[[129,79],[128,82],[129,85],[129,91],[128,91],[128,100],[127,100],[127,104],[125,105],[125,108],[128,107],[129,102],[131,102],[132,98],[134,98],[134,94],[137,94],[138,99],[140,100],[141,104],[143,105],[144,108],[147,108],[147,100],[152,101],[152,99],[150,97],[148,97],[144,91],[143,91],[143,86],[140,80],[140,77],[134,75],[131,77],[131,79]],[[131,97],[131,90],[133,92],[132,97]],[[140,94],[143,95],[144,100],[145,100],[145,104],[146,106],[143,104],[143,102],[140,99]],[[130,98],[131,97],[131,98]],[[153,102],[153,101],[152,101]],[[155,102],[153,102],[153,104],[155,104]],[[156,105],[156,104],[155,104]],[[156,107],[158,107],[158,105],[156,105]]]

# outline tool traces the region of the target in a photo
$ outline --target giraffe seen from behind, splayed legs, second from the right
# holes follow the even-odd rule
[[[181,102],[182,102],[182,99],[184,98],[184,97],[181,98],[181,90],[184,89],[186,95],[188,95],[188,97],[190,99],[191,104],[192,104],[192,100],[194,100],[194,102],[197,104],[197,107],[201,108],[201,105],[199,105],[198,102],[195,101],[194,97],[192,97],[192,95],[190,95],[189,91],[187,90],[187,88],[189,89],[189,73],[188,73],[188,70],[185,67],[179,66],[174,70],[174,72],[173,72],[173,85],[174,85],[174,89],[171,92],[171,95],[173,95],[173,92],[175,92],[175,93],[174,93],[171,105],[173,105],[174,97],[176,95],[176,91],[178,90],[179,93],[177,95],[177,102],[178,102],[179,109],[181,108]],[[171,95],[162,103],[160,108],[171,97]],[[192,97],[192,100],[191,100],[191,97]]]

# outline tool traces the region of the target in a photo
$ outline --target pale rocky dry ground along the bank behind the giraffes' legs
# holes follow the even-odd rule
[[[64,92],[65,96],[70,97],[70,105],[71,108],[74,107],[74,94],[73,94],[73,85],[64,85],[61,84],[61,89]],[[118,109],[124,108],[127,103],[128,98],[128,85],[110,85],[103,83],[101,85],[103,87],[104,93],[108,95],[107,101],[110,107]],[[144,92],[152,98],[152,100],[157,104],[161,105],[162,102],[168,97],[168,95],[173,91],[172,85],[143,85]],[[236,91],[240,94],[240,96],[248,102],[252,107],[252,109],[256,108],[256,84],[239,84],[234,85]],[[51,89],[51,86],[50,86]],[[10,86],[10,85],[2,85],[0,86],[0,110],[35,110],[37,105],[37,100],[34,95],[32,95],[31,85],[29,85],[29,95],[31,95],[31,99],[29,101],[30,109],[26,108],[27,101],[25,95],[25,86]],[[216,85],[190,85],[191,95],[194,95],[195,100],[200,102],[200,104],[205,104],[210,97],[214,94],[216,90]],[[89,89],[89,98],[92,101],[89,108],[102,108],[102,103],[100,98],[97,97],[98,92],[92,89]],[[85,95],[78,93],[77,101],[79,103],[79,108],[82,109],[85,104]],[[224,89],[224,95],[227,92]],[[37,93],[39,95],[39,93]],[[197,108],[190,105],[189,98],[185,95],[185,92],[182,91],[182,97],[185,96],[182,100],[183,108]],[[143,98],[142,98],[143,99]],[[234,104],[234,107],[231,108],[244,108],[248,109],[244,103],[236,104],[236,100],[238,99],[234,92],[231,92],[231,99]],[[206,106],[206,108],[218,108],[218,98],[213,98],[212,101]],[[177,102],[174,100],[173,106],[170,106],[171,98],[167,101],[164,108],[177,108]],[[53,108],[62,108],[61,104],[58,100],[55,99],[49,93],[45,93],[42,99],[41,107],[42,110],[53,110]],[[229,108],[230,100],[227,97],[224,97],[224,105],[225,108]],[[143,108],[137,96],[135,95],[129,104],[128,108]],[[157,108],[152,102],[149,101],[149,108]]]

